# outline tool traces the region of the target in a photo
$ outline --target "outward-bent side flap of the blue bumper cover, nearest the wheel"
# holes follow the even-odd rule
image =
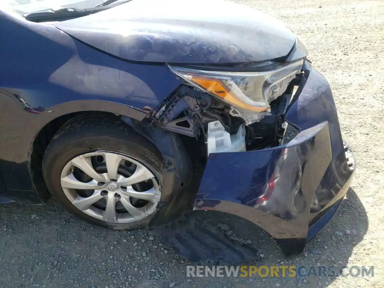
[[[328,123],[322,122],[285,145],[210,154],[194,208],[239,215],[274,238],[305,238],[313,192],[331,161],[330,146]]]

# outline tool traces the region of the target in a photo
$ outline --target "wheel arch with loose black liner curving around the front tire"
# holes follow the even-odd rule
[[[39,115],[44,121],[41,122],[41,129],[31,141],[28,152],[28,169],[32,185],[43,202],[51,197],[42,174],[42,159],[48,144],[66,121],[92,113],[99,113],[101,118],[119,117],[122,122],[133,127],[155,144],[166,160],[164,163],[164,182],[166,182],[164,190],[168,191],[169,197],[184,187],[192,173],[192,166],[185,149],[180,149],[184,145],[179,135],[162,128],[149,127],[149,123],[144,120],[148,112],[108,101],[80,100],[47,108]],[[161,141],[158,141],[159,138]]]

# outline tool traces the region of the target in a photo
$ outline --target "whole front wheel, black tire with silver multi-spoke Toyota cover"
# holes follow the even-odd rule
[[[162,157],[118,118],[68,121],[43,157],[53,197],[73,215],[113,229],[147,225],[161,200]]]

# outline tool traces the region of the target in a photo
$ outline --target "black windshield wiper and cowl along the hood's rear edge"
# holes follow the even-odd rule
[[[117,1],[119,0],[105,0],[104,2],[96,5],[95,7],[85,9],[65,7],[59,9],[51,9],[48,11],[32,12],[24,14],[23,17],[31,22],[64,21],[107,10],[109,8],[121,5],[131,0],[121,1],[116,3],[115,5],[111,5],[112,3]]]

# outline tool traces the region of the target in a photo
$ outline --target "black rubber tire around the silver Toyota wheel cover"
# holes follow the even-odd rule
[[[93,218],[77,209],[64,194],[60,175],[74,157],[92,151],[109,150],[137,159],[151,169],[161,185],[163,158],[146,137],[122,122],[118,116],[90,114],[66,122],[53,137],[43,157],[43,177],[52,196],[71,214],[103,227],[115,230],[139,229],[148,224],[152,213],[137,222],[111,223]]]

